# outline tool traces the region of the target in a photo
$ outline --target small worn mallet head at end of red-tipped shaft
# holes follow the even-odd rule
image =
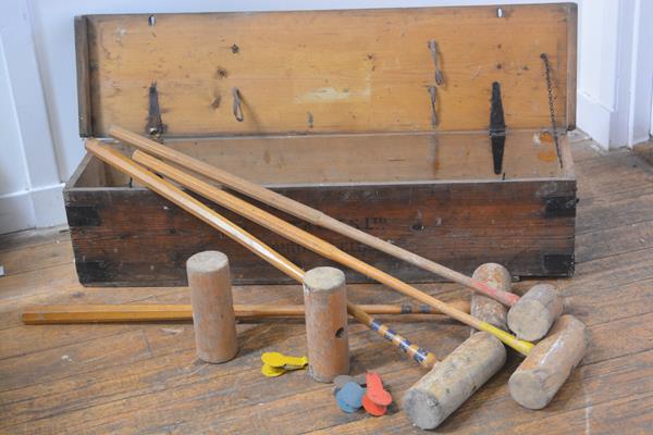
[[[531,287],[508,311],[508,327],[517,338],[537,341],[563,313],[563,298],[551,284]]]

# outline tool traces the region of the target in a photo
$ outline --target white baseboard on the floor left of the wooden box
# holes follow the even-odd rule
[[[63,184],[0,196],[0,234],[66,223]]]

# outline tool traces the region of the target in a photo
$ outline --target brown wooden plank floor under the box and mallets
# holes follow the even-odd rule
[[[456,411],[442,433],[643,434],[653,431],[653,169],[628,151],[574,146],[579,177],[576,276],[557,285],[567,311],[589,325],[581,366],[542,411],[506,389],[513,357]],[[210,365],[195,358],[193,326],[177,324],[24,326],[33,303],[188,303],[184,288],[79,286],[65,231],[0,237],[0,433],[10,434],[412,434],[401,407],[371,418],[341,412],[332,386],[306,372],[263,377],[262,351],[305,353],[295,321],[238,326],[241,353]],[[532,282],[516,284],[522,291]],[[457,285],[419,286],[445,300]],[[297,286],[235,288],[236,302],[300,302]],[[398,301],[380,286],[352,286],[359,302]],[[397,322],[401,333],[444,357],[467,327],[439,319]],[[395,398],[424,372],[379,337],[352,325],[353,372],[381,372]]]

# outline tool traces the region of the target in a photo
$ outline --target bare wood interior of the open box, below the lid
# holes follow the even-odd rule
[[[559,141],[563,167],[550,133],[508,133],[500,174],[483,133],[233,137],[165,145],[255,183],[282,187],[571,178],[567,137]],[[130,177],[91,158],[69,187],[133,186]]]

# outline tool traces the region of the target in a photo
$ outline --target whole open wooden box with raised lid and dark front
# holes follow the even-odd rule
[[[81,135],[155,136],[461,272],[570,276],[576,27],[574,4],[79,16]],[[236,283],[288,281],[96,158],[64,197],[85,285],[183,285],[206,249]],[[215,209],[305,269],[329,263]],[[276,214],[401,278],[436,278]]]

